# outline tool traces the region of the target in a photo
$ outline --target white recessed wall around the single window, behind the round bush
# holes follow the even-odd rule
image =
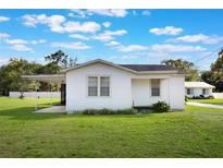
[[[158,100],[165,101],[171,109],[184,109],[185,107],[185,86],[184,76],[147,75],[148,79],[133,79],[133,100],[134,106],[149,106]],[[151,96],[151,79],[161,79],[160,96]]]

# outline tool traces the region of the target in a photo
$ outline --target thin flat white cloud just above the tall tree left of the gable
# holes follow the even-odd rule
[[[85,50],[91,48],[83,43],[52,43],[52,47],[62,47],[75,50]]]

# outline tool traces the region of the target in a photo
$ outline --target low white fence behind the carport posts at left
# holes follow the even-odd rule
[[[52,97],[54,98],[60,98],[61,97],[61,93],[60,92],[37,92],[37,96],[38,97],[50,97],[52,94]],[[35,97],[36,93],[35,92],[24,92],[23,95],[25,97]],[[21,92],[10,92],[10,97],[20,97],[21,96]]]

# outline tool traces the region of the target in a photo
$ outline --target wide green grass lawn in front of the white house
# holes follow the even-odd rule
[[[40,104],[49,106],[49,99]],[[135,116],[33,110],[34,99],[0,97],[0,157],[223,157],[223,110],[187,106]]]

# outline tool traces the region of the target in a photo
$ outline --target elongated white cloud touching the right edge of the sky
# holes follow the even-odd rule
[[[203,34],[198,35],[186,35],[177,38],[168,39],[166,41],[185,41],[185,43],[203,43],[203,44],[219,44],[223,40],[223,36],[207,36]]]

